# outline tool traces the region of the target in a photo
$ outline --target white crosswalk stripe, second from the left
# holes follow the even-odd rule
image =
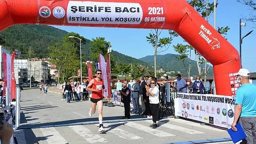
[[[66,141],[54,127],[40,128],[48,144],[66,144]]]

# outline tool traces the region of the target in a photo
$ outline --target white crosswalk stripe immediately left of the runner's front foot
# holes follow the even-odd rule
[[[94,132],[90,131],[88,128],[84,126],[77,125],[77,126],[69,126],[69,127],[89,143],[107,143],[108,142],[106,139],[102,138],[99,135],[95,135]]]

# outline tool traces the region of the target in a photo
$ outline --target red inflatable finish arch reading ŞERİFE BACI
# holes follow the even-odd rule
[[[175,30],[213,64],[218,95],[239,87],[238,51],[185,0],[0,0],[0,31],[15,24]]]

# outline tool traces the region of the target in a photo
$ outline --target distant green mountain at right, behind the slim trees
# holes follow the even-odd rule
[[[187,69],[189,69],[189,62],[186,60],[184,63],[187,66],[187,69],[183,65],[183,61],[177,60],[176,57],[177,54],[164,54],[164,55],[157,55],[157,69],[162,68],[165,71],[180,71],[184,75],[188,75]],[[147,62],[151,65],[154,65],[154,56],[145,56],[142,58],[139,58],[139,60],[142,60],[144,62]],[[207,65],[208,68],[209,65]],[[204,65],[201,65],[203,68]],[[212,75],[213,74],[213,67],[210,66],[208,70],[208,74]],[[190,75],[198,75],[198,69],[197,69],[197,64],[196,61],[191,60],[191,69],[190,69]]]

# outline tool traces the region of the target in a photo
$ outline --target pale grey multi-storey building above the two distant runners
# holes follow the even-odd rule
[[[47,83],[48,69],[48,62],[33,58],[28,62],[28,79],[33,77],[37,82]]]

